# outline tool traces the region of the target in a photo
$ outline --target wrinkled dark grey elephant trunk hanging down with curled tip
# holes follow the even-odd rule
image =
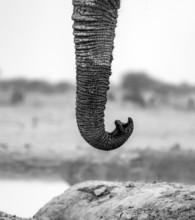
[[[105,131],[104,125],[120,0],[73,0],[73,5],[77,124],[90,145],[113,150],[125,143],[133,131],[131,118],[127,123],[116,120],[112,132]]]

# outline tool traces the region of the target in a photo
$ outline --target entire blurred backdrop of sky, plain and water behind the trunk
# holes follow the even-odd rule
[[[105,122],[135,130],[108,153],[76,125],[72,1],[0,0],[1,211],[31,217],[85,180],[195,183],[194,9],[122,1]]]

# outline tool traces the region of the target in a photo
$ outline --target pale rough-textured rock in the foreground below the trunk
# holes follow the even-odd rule
[[[88,181],[55,197],[31,220],[195,219],[195,186]],[[0,220],[24,220],[0,212]]]

